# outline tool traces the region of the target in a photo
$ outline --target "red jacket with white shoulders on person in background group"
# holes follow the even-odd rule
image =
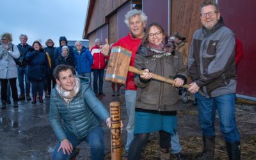
[[[97,47],[97,45],[92,47],[91,53],[93,56],[92,69],[104,69],[106,67],[106,58],[100,52],[100,49]]]

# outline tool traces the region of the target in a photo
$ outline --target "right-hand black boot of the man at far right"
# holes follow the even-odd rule
[[[230,160],[239,160],[241,157],[240,141],[229,143],[226,141],[228,157]]]

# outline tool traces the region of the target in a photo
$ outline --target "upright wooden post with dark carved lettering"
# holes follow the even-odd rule
[[[111,160],[121,160],[120,102],[111,102]]]

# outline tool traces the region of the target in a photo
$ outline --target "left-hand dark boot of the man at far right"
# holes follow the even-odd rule
[[[204,150],[200,159],[211,160],[214,157],[215,136],[203,135]]]

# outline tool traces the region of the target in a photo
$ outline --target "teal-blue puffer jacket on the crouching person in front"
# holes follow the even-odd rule
[[[102,102],[92,92],[90,84],[83,78],[80,81],[79,92],[68,104],[60,97],[56,87],[51,92],[49,118],[59,141],[67,138],[64,131],[82,140],[88,132],[100,125],[99,118],[105,121],[109,117]]]

